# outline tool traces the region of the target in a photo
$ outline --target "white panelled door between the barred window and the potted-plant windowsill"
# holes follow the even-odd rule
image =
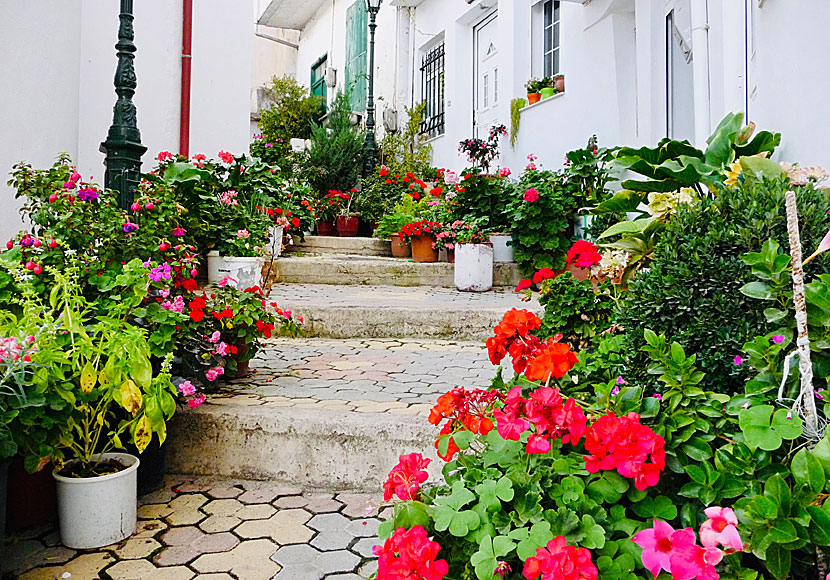
[[[486,139],[493,125],[499,125],[498,18],[492,14],[473,28],[474,82],[473,134]]]

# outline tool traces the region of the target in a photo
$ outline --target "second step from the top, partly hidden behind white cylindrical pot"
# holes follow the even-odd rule
[[[454,264],[446,262],[416,263],[402,258],[326,254],[320,256],[286,256],[275,260],[277,281],[290,284],[441,286],[454,288]],[[495,264],[493,284],[513,286],[519,283],[516,263]]]

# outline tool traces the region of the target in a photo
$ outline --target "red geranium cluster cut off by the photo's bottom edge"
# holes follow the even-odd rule
[[[398,528],[372,551],[378,556],[377,580],[442,580],[449,572],[446,560],[435,559],[440,544],[430,541],[421,526]]]

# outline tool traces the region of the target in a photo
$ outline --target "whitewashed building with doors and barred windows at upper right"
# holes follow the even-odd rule
[[[330,96],[365,70],[354,64],[365,36],[349,35],[364,3],[273,0],[260,22],[300,31],[297,78],[335,69]],[[392,0],[378,21],[379,120],[394,128],[394,113],[426,101],[439,165],[462,167],[458,142],[509,127],[525,82],[556,73],[565,92],[522,110],[502,165],[534,153],[558,167],[592,134],[604,146],[700,146],[733,111],[782,132],[782,159],[830,165],[826,0]]]

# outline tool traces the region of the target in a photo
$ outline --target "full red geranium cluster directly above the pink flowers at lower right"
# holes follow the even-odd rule
[[[639,490],[657,485],[666,467],[665,440],[646,425],[640,416],[617,417],[608,413],[590,427],[585,437],[585,469],[613,471],[634,480]],[[649,457],[651,462],[648,461]]]

